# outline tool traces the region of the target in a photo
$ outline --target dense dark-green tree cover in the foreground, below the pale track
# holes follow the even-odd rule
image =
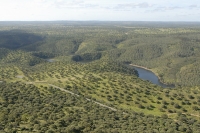
[[[3,83],[0,91],[1,132],[199,132],[200,123],[184,114],[176,122],[167,115],[115,112],[84,97],[20,82]]]

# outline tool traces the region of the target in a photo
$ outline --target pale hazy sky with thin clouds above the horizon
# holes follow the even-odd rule
[[[200,21],[200,0],[0,0],[0,21]]]

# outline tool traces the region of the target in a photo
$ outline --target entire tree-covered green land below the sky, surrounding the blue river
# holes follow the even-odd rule
[[[1,22],[0,132],[199,133],[199,30],[198,23]],[[127,64],[175,88],[143,81]]]

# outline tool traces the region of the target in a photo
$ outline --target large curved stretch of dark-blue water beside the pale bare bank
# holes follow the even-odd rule
[[[159,85],[164,88],[173,88],[174,87],[174,85],[166,85],[166,84],[161,83],[159,78],[153,72],[151,72],[149,70],[146,70],[141,67],[136,67],[136,66],[133,66],[133,67],[135,68],[135,70],[138,71],[139,78],[141,78],[143,80],[148,80],[151,83]]]

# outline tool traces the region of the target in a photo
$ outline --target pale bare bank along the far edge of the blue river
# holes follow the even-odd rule
[[[161,81],[161,78],[158,76],[158,73],[152,71],[151,69],[149,69],[149,68],[147,68],[147,67],[143,67],[143,66],[139,66],[139,65],[135,65],[135,64],[129,64],[129,65],[131,65],[131,66],[133,66],[133,67],[140,68],[140,69],[144,69],[144,70],[147,70],[147,71],[153,73],[153,74],[157,77],[157,79],[158,79],[158,81],[160,82],[160,84],[162,84],[162,85],[161,85],[162,87],[175,87],[175,85],[173,85],[173,84],[167,84],[167,83],[162,82],[162,81]]]

